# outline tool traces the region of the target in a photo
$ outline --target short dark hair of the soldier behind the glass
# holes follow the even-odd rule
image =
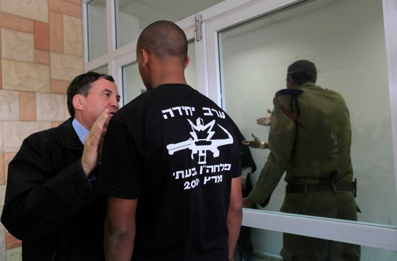
[[[308,60],[298,60],[288,67],[287,77],[291,76],[294,83],[298,86],[305,82],[316,83],[317,69],[313,62]]]

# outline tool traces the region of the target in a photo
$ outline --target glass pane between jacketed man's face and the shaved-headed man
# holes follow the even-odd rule
[[[123,102],[129,103],[139,94],[146,91],[146,87],[142,82],[138,63],[134,62],[123,67]]]

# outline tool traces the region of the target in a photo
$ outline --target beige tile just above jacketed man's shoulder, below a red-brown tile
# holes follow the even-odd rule
[[[4,121],[4,164],[7,164],[6,153],[17,152],[22,141],[29,135],[51,127],[51,122],[46,121]],[[6,172],[7,173],[7,172]]]

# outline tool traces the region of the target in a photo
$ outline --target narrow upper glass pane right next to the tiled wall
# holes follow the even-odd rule
[[[106,0],[93,0],[87,4],[88,59],[107,53]]]

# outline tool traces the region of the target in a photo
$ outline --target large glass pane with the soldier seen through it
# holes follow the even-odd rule
[[[251,134],[253,133],[262,141],[268,141],[269,133],[272,134],[272,132],[269,131],[269,126],[257,124],[257,119],[268,116],[267,109],[273,109],[273,97],[276,91],[286,88],[288,66],[300,59],[313,61],[318,72],[316,84],[342,94],[350,111],[351,161],[353,176],[358,181],[356,202],[362,211],[362,213],[357,213],[358,220],[397,225],[397,200],[384,39],[381,0],[307,1],[301,5],[225,30],[219,34],[222,103],[224,109],[235,120],[246,139],[252,140]],[[304,93],[301,95],[304,95]],[[288,97],[291,97],[291,95]],[[318,96],[316,97],[316,99],[319,99]],[[302,101],[299,96],[297,99],[298,103]],[[291,100],[291,104],[293,103],[295,102]],[[315,102],[312,104],[315,104]],[[286,105],[291,107],[290,103]],[[321,107],[314,107],[321,108],[321,110],[328,108],[325,103],[321,105]],[[290,126],[294,132],[298,129],[297,142],[304,139],[302,130],[313,126],[310,125],[311,122],[317,122],[315,124],[319,125],[316,125],[316,127],[320,130],[325,121],[342,115],[337,113],[339,107],[335,107],[335,114],[328,114],[329,118],[304,118],[302,115],[309,115],[306,113],[308,107],[301,104],[299,106],[299,113],[297,109],[292,113],[293,115],[300,115],[297,116],[297,125],[280,110],[279,106],[275,107],[280,112],[278,115],[281,115],[278,118],[279,121],[289,119],[290,121],[284,120],[283,122],[286,122],[286,124],[292,123]],[[305,109],[306,111],[304,111]],[[302,122],[306,122],[306,125],[303,126]],[[272,124],[272,128],[277,129],[276,126],[279,127],[280,125]],[[330,124],[330,126],[341,129],[342,135],[339,135],[339,138],[346,135],[344,133],[349,133],[349,129],[345,127],[348,124]],[[331,129],[331,127],[328,129]],[[346,129],[346,132],[344,129]],[[288,135],[293,132],[283,131],[280,133],[282,133],[282,136],[279,136],[280,138],[288,139]],[[315,131],[311,131],[311,133],[308,131],[307,135],[310,138],[308,139],[309,142],[312,144],[317,139],[315,137],[321,136]],[[302,151],[300,154],[293,154],[293,142],[288,143],[280,138],[278,140],[277,138],[273,139],[273,144],[277,144],[277,142],[278,144],[286,144],[285,147],[290,149],[289,151],[294,157],[291,160],[290,157],[285,157],[288,158],[286,164],[288,167],[285,169],[289,170],[290,184],[327,183],[330,181],[337,183],[335,179],[331,178],[331,172],[327,172],[325,167],[335,161],[329,159],[323,164],[316,165],[316,162],[318,162],[316,160],[319,157],[314,152],[319,150],[317,147],[321,147],[324,140],[329,141],[331,139],[331,135],[327,137],[329,138],[324,138],[311,147],[307,147],[309,143],[306,143],[306,147],[298,147],[297,145],[295,150]],[[334,137],[332,136],[332,138]],[[291,137],[290,141],[295,141],[295,138]],[[335,140],[335,142],[337,144],[339,140]],[[279,153],[278,151],[285,149],[285,147],[273,147],[272,155]],[[335,156],[348,152],[348,147],[338,151]],[[257,170],[250,175],[252,185],[255,185],[267,161],[269,150],[251,148],[251,152],[257,165]],[[307,156],[309,154],[311,156]],[[301,160],[297,161],[297,158],[301,158]],[[349,156],[343,158],[343,160],[348,161]],[[299,162],[303,162],[303,160],[309,164],[299,166]],[[282,159],[278,157],[275,161],[281,162]],[[348,166],[348,164],[345,166]],[[331,171],[331,168],[329,170]],[[310,180],[305,178],[308,173],[311,174]],[[341,169],[332,173],[335,173],[337,177],[344,175],[344,173],[350,173],[349,175],[351,175],[351,171],[345,172]],[[319,193],[332,194],[330,192],[333,189],[332,186],[330,188],[327,186],[324,186],[326,188],[319,188],[323,192],[305,195],[305,186],[297,185],[294,186],[294,189],[296,188],[301,192],[295,190],[286,196],[286,181],[283,179],[287,176],[286,173],[279,172],[279,169],[273,168],[271,171],[269,169],[266,177],[272,177],[275,181],[268,180],[265,187],[270,187],[270,183],[277,183],[275,176],[280,177],[280,175],[282,175],[281,180],[273,190],[270,203],[265,207],[266,210],[278,211],[282,204],[286,203],[286,197],[288,197],[289,202],[292,202],[292,199],[298,201],[298,197],[302,197],[302,200],[296,203],[296,206],[301,204],[302,209],[316,204],[318,207],[314,208],[318,208],[318,212],[313,212],[310,215],[334,215],[333,212],[339,210],[336,207],[335,209],[329,209],[328,204],[333,203],[326,203],[318,198]],[[310,189],[312,188],[313,186],[310,186]],[[347,188],[342,188],[342,190],[347,190]],[[266,191],[266,189],[262,189],[263,191]],[[267,191],[271,191],[271,189]],[[304,204],[311,205],[304,206]],[[351,205],[354,207],[354,204]],[[292,206],[287,207],[292,209]],[[259,205],[258,208],[262,209]],[[320,210],[320,208],[322,209]],[[293,213],[300,213],[302,209],[296,208]],[[292,212],[292,210],[285,211]],[[327,211],[332,213],[326,213]],[[354,210],[351,212],[351,214],[354,214]],[[340,216],[332,217],[342,218]],[[349,217],[345,218],[349,219]]]

